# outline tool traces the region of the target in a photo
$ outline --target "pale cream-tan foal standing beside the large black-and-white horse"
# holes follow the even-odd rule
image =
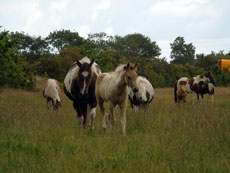
[[[136,64],[120,65],[115,72],[102,73],[96,82],[96,97],[103,116],[102,127],[106,129],[104,101],[109,103],[110,127],[115,125],[115,107],[119,105],[123,134],[126,134],[126,106],[128,100],[128,86],[134,92],[138,91]]]

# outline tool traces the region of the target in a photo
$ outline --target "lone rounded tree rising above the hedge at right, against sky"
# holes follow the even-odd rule
[[[177,37],[171,46],[172,63],[174,64],[193,64],[195,59],[195,47],[192,43],[186,44],[183,37]]]

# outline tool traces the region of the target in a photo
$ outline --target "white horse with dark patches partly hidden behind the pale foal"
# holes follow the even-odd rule
[[[147,107],[154,98],[154,89],[151,83],[142,76],[137,77],[138,92],[134,93],[129,88],[129,101],[132,109],[136,109],[138,106]]]

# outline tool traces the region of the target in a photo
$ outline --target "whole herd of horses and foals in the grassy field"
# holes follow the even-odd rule
[[[77,60],[65,76],[63,89],[65,95],[72,100],[77,112],[79,127],[86,127],[87,121],[90,129],[94,128],[96,106],[99,105],[103,117],[102,127],[106,129],[106,115],[104,102],[108,102],[109,125],[114,129],[115,107],[120,108],[120,121],[123,134],[126,134],[126,108],[129,99],[131,107],[147,107],[154,98],[154,89],[151,83],[137,74],[137,64],[119,65],[114,72],[102,73],[99,65],[84,57]],[[194,92],[202,96],[214,94],[215,80],[208,72],[191,79],[180,78],[175,82],[174,99],[176,103],[186,102],[187,93]],[[59,97],[60,87],[55,79],[47,80],[43,89],[43,96],[47,106],[58,111],[61,107]]]

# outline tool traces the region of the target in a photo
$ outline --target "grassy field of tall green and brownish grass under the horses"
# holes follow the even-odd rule
[[[127,109],[127,135],[78,128],[64,96],[57,115],[40,92],[0,92],[0,172],[229,172],[230,88],[214,103],[175,105],[173,89],[155,89],[147,111]],[[116,110],[118,115],[119,111]]]

